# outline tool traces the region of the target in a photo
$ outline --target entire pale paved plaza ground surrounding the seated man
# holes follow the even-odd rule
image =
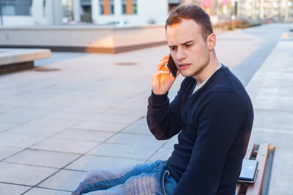
[[[253,101],[251,140],[277,146],[270,195],[293,191],[293,41],[279,41],[289,29],[217,35],[218,59]],[[167,45],[114,55],[53,52],[36,69],[0,76],[0,195],[69,195],[90,169],[166,160],[177,136],[156,140],[146,107],[152,74],[168,52]]]

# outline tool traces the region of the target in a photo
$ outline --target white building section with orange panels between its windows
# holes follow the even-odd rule
[[[105,24],[129,21],[134,25],[165,23],[168,12],[182,0],[73,0],[74,20]]]

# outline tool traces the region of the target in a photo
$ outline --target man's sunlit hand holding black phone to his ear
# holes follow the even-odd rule
[[[163,95],[166,94],[174,83],[175,79],[179,75],[177,70],[176,77],[170,76],[169,69],[165,66],[168,62],[170,55],[168,54],[160,60],[157,66],[157,70],[152,77],[152,91],[154,94]]]

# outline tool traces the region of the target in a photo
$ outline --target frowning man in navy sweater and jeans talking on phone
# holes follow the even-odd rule
[[[168,160],[87,173],[74,195],[235,195],[253,122],[251,100],[241,82],[219,63],[209,15],[188,4],[166,21],[167,43],[186,77],[174,100],[176,78],[159,62],[148,98],[147,123],[159,140],[177,134]]]

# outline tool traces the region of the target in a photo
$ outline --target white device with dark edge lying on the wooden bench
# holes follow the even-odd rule
[[[254,183],[257,173],[257,167],[257,160],[243,159],[238,183]]]

